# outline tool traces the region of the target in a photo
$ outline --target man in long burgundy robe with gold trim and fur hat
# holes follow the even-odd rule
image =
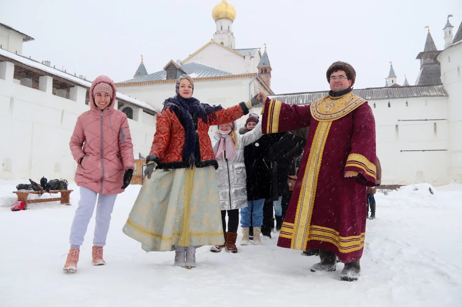
[[[329,95],[308,106],[264,103],[263,133],[310,127],[298,179],[282,224],[278,246],[319,249],[312,272],[335,271],[341,280],[358,280],[363,254],[367,196],[376,185],[376,135],[371,107],[355,96],[353,67],[335,62],[327,70]]]

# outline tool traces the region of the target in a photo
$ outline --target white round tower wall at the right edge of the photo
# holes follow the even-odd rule
[[[462,43],[444,49],[437,59],[441,82],[449,95],[449,179],[462,183]]]

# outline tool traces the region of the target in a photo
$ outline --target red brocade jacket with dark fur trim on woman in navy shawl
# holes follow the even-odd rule
[[[197,118],[197,125],[195,122],[195,126],[197,127],[196,167],[213,165],[215,169],[218,168],[218,163],[213,153],[212,142],[208,135],[209,127],[230,123],[247,113],[249,113],[249,109],[245,103],[241,102],[236,106],[217,111],[214,119],[209,120],[208,123],[205,123],[201,118]],[[188,162],[182,159],[186,130],[178,118],[181,116],[181,112],[172,112],[169,108],[157,114],[154,141],[152,142],[149,156],[146,157],[146,162],[156,162],[156,168],[186,168],[189,166]]]

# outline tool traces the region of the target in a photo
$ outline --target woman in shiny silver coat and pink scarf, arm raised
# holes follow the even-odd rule
[[[236,239],[239,226],[239,209],[247,207],[247,185],[244,164],[244,147],[258,140],[261,133],[261,124],[244,135],[237,135],[236,122],[222,124],[215,132],[213,152],[218,161],[216,171],[219,199],[221,208],[221,223],[225,245],[214,245],[211,252],[226,250],[237,253]],[[228,231],[226,232],[226,212],[228,213]]]

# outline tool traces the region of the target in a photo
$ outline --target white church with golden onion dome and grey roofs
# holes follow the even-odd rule
[[[266,45],[263,53],[260,47],[236,48],[232,27],[237,12],[227,0],[213,7],[212,18],[216,28],[210,41],[183,60],[166,59],[164,68],[152,73],[141,60],[133,78],[116,83],[117,90],[162,109],[164,100],[175,92],[176,79],[186,73],[194,79],[194,96],[210,105],[233,106],[260,91],[274,94]],[[245,118],[241,121],[238,124]]]

